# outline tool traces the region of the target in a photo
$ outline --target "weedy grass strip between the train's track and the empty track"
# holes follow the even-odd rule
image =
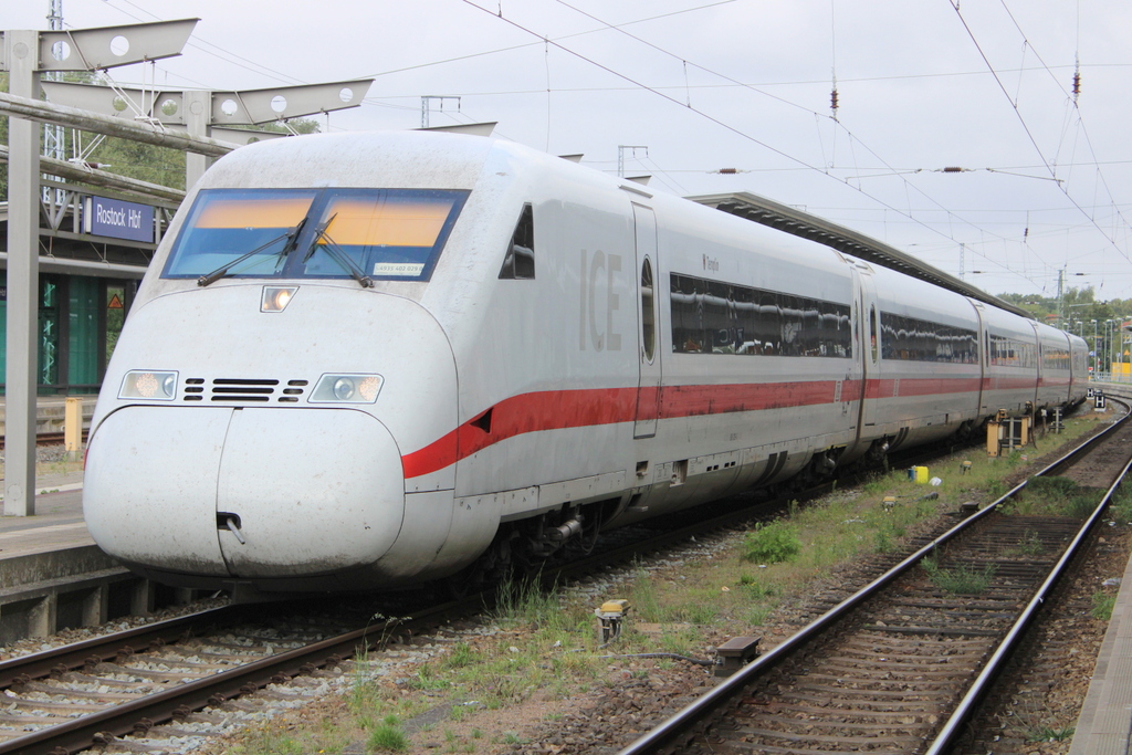
[[[206,749],[241,755],[359,748],[512,752],[540,727],[576,710],[577,701],[680,662],[619,661],[611,654],[707,659],[729,637],[764,630],[774,635],[767,625],[821,592],[857,559],[899,547],[964,501],[1001,497],[1012,487],[1009,478],[1108,419],[1086,413],[1066,421],[1063,434],[1038,438],[1036,446],[1001,458],[987,457],[979,446],[941,458],[929,466],[929,477],[942,480],[938,486],[916,484],[904,470],[893,470],[805,506],[792,504],[780,521],[710,539],[679,563],[627,569],[625,580],[597,599],[577,590],[547,593],[505,585],[499,607],[486,618],[496,627],[492,634],[452,643],[392,675],[381,675],[379,657],[362,659],[354,666],[350,692],[324,703],[320,712],[269,721]],[[966,473],[964,461],[971,462]],[[1073,499],[1054,492],[1062,503]],[[1054,506],[1048,497],[1031,496],[1027,505]],[[1118,501],[1114,516],[1132,521],[1132,495]],[[602,647],[593,611],[617,598],[629,601],[629,620],[621,637]],[[1104,611],[1108,598],[1105,592],[1095,597],[1097,610]],[[431,712],[429,722],[421,724],[418,717],[426,712]],[[410,721],[417,724],[406,726]]]

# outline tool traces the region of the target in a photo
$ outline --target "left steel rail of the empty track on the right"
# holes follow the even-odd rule
[[[1046,465],[1039,472],[1032,477],[1045,477],[1053,474],[1056,470],[1064,467],[1066,464],[1072,463],[1080,456],[1089,453],[1095,446],[1099,445],[1108,438],[1108,436],[1116,431],[1117,428],[1123,426],[1130,419],[1132,419],[1132,404],[1127,404],[1124,401],[1120,401],[1124,405],[1124,417],[1120,420],[1113,422],[1103,432],[1098,432],[1094,437],[1089,438],[1077,448],[1072,449],[1061,458],[1054,461],[1052,464]],[[743,667],[741,670],[737,671],[732,676],[728,677],[726,681],[713,687],[706,692],[701,697],[696,698],[684,710],[677,712],[675,715],[661,722],[655,729],[652,729],[644,736],[640,737],[627,747],[618,750],[617,755],[645,755],[648,753],[659,753],[666,752],[666,747],[676,747],[679,745],[679,738],[691,735],[694,728],[704,721],[711,713],[713,713],[719,707],[727,704],[732,697],[738,694],[739,690],[744,689],[755,679],[770,672],[779,663],[784,661],[787,658],[792,655],[796,651],[804,647],[814,637],[820,635],[822,632],[827,629],[831,625],[839,621],[846,615],[856,609],[860,603],[865,602],[882,589],[889,585],[897,577],[902,575],[904,572],[910,569],[912,566],[918,564],[925,557],[933,554],[936,548],[944,544],[945,542],[954,539],[968,527],[972,526],[975,523],[983,521],[985,517],[997,509],[1000,504],[1005,503],[1023,488],[1026,488],[1028,480],[1014,486],[1010,491],[1003,495],[997,500],[988,504],[981,511],[972,514],[971,516],[964,518],[962,522],[958,523],[955,526],[951,527],[938,538],[917,550],[911,556],[908,556],[902,561],[893,566],[891,569],[878,576],[876,580],[865,585],[856,593],[841,601],[829,611],[820,616],[818,618],[811,621],[808,625],[798,630],[797,634],[792,635],[790,638],[786,640],[773,650],[762,654],[756,660],[752,661],[747,666]],[[675,750],[672,750],[675,752]]]

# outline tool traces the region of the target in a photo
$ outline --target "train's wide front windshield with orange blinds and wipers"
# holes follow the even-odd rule
[[[204,189],[162,277],[427,281],[466,198],[435,189]]]

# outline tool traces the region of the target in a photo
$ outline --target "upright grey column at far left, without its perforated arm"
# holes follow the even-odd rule
[[[9,91],[40,96],[40,34],[5,33]],[[5,496],[9,516],[35,514],[36,334],[40,303],[40,129],[8,120],[8,345],[5,370]]]

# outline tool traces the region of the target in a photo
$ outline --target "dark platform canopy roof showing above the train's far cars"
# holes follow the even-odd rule
[[[890,267],[906,275],[961,293],[964,297],[970,297],[971,299],[1032,319],[1032,315],[1024,309],[1003,301],[998,297],[993,297],[978,286],[974,286],[966,281],[932,267],[911,255],[900,251],[895,247],[890,247],[882,241],[872,239],[843,225],[831,223],[827,220],[804,213],[800,209],[795,209],[773,199],[760,197],[747,191],[711,194],[687,198],[701,205],[707,205],[709,207],[745,217],[762,225],[769,225],[804,239],[824,243],[838,251],[864,259],[874,265]]]

